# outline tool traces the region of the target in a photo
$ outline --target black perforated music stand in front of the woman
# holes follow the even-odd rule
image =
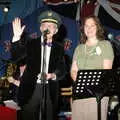
[[[116,78],[115,78],[116,77]],[[80,70],[73,84],[73,99],[96,97],[98,120],[101,120],[101,99],[120,93],[117,72],[113,70]],[[117,81],[117,82],[116,82]]]

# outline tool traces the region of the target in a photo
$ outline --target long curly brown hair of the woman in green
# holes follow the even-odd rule
[[[87,36],[84,32],[84,26],[85,26],[85,22],[86,20],[88,19],[93,19],[95,24],[96,24],[96,27],[97,27],[97,32],[96,32],[96,37],[98,40],[104,40],[105,39],[105,36],[104,36],[104,27],[103,25],[101,24],[99,18],[97,16],[94,16],[94,15],[91,15],[91,16],[88,16],[86,17],[83,22],[82,22],[82,25],[81,25],[81,40],[80,42],[81,43],[86,43],[87,41]]]

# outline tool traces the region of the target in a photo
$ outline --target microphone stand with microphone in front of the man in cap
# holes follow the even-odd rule
[[[46,41],[47,41],[47,34],[43,34],[43,42],[44,42],[44,49],[43,53],[43,57],[41,59],[43,59],[43,67],[42,67],[42,71],[41,71],[41,77],[39,78],[41,80],[41,101],[40,101],[40,115],[39,115],[39,120],[46,120],[46,99],[47,99],[47,93],[46,93],[46,85],[47,85],[47,80],[46,80]]]

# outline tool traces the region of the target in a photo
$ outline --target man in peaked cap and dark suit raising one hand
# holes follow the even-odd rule
[[[26,70],[18,93],[20,120],[56,120],[58,81],[65,75],[64,48],[53,40],[61,25],[61,18],[53,11],[44,11],[38,21],[41,37],[24,40],[24,44],[21,35],[25,25],[21,26],[20,18],[15,18],[12,23],[13,59],[27,56]]]

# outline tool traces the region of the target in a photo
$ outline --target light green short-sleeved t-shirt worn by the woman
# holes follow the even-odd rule
[[[73,60],[77,61],[78,69],[103,69],[103,60],[113,60],[114,53],[111,43],[104,40],[97,45],[80,44],[76,47]]]

